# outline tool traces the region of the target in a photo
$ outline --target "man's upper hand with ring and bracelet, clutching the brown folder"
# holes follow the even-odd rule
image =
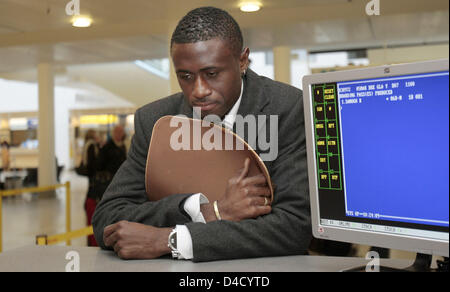
[[[240,173],[228,181],[224,196],[218,200],[218,209],[223,220],[241,221],[269,214],[270,189],[264,175],[248,176],[250,159],[246,159]],[[267,203],[267,205],[266,205]],[[207,222],[217,220],[212,203],[201,206]]]

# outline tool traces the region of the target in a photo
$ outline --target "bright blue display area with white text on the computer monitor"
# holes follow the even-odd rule
[[[346,216],[448,227],[448,71],[336,91]]]

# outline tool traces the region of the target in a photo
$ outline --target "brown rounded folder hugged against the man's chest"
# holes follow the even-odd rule
[[[251,161],[248,175],[264,174],[273,201],[269,172],[242,138],[210,122],[162,117],[155,123],[148,150],[148,197],[156,201],[173,194],[203,193],[210,202],[218,200],[224,195],[228,180],[244,168],[247,157]]]

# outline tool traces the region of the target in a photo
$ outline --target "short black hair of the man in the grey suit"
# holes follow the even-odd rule
[[[226,41],[237,56],[241,54],[244,39],[236,20],[222,9],[200,7],[190,11],[180,20],[172,34],[170,48],[172,49],[174,43],[196,43],[214,38]]]

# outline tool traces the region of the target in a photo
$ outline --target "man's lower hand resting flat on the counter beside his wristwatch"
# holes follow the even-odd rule
[[[167,240],[171,230],[120,221],[105,227],[103,242],[122,259],[154,259],[170,253]]]

